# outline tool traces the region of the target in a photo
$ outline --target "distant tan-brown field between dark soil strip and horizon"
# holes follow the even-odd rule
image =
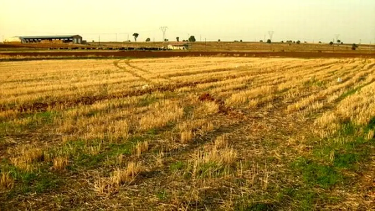
[[[181,42],[182,43],[182,42]],[[189,42],[191,51],[247,51],[247,52],[351,52],[374,53],[375,45],[359,45],[357,50],[351,50],[351,44],[317,44],[317,43],[272,43],[265,42]],[[0,44],[0,51],[32,51],[48,50],[48,48],[64,47],[167,47],[168,42],[97,42],[88,45],[71,44]]]

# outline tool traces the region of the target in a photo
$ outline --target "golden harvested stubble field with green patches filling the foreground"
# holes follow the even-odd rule
[[[0,209],[374,208],[374,66],[1,62]]]

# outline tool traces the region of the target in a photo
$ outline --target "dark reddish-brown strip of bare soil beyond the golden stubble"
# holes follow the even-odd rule
[[[163,58],[186,56],[237,56],[237,57],[290,57],[290,58],[375,58],[375,53],[328,53],[328,52],[233,52],[233,51],[45,51],[5,52],[6,56],[33,57],[133,57]]]

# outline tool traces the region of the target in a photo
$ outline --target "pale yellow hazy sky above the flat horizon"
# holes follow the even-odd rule
[[[375,0],[5,0],[0,41],[81,35],[87,41],[300,40],[375,43]]]

